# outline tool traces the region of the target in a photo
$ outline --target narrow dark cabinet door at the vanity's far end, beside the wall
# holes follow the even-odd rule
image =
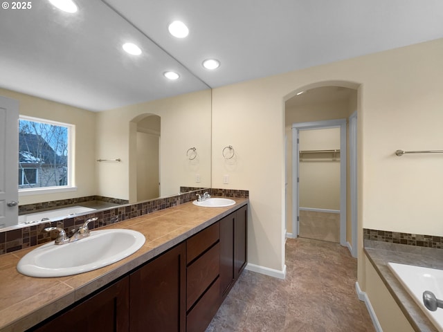
[[[234,279],[237,280],[246,266],[248,209],[243,206],[237,210],[234,223]]]

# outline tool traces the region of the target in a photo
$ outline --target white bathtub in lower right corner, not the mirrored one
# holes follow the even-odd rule
[[[438,331],[443,332],[443,308],[430,311],[423,304],[424,291],[431,291],[437,299],[443,299],[443,270],[391,262],[388,266]]]

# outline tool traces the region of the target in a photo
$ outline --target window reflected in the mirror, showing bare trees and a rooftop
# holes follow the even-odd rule
[[[19,191],[71,187],[71,136],[74,126],[19,118]]]

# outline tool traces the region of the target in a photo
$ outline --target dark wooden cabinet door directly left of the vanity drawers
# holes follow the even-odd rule
[[[150,261],[130,278],[131,332],[186,330],[186,243]]]

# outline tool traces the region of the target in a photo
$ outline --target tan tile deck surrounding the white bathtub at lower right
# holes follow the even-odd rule
[[[397,243],[364,240],[364,251],[372,266],[381,277],[383,284],[399,305],[408,322],[415,331],[435,332],[437,329],[415,303],[406,288],[388,267],[388,262],[424,266],[426,268],[440,268],[443,270],[443,249],[407,246]]]

